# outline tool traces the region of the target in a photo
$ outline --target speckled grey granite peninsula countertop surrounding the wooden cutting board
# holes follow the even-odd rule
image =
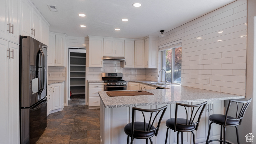
[[[145,91],[154,95],[109,97],[106,91],[98,91],[98,93],[105,108],[245,98],[245,96],[179,85],[169,86],[169,89],[150,89]]]

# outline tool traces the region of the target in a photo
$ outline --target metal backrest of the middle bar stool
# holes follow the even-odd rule
[[[197,105],[187,105],[187,104],[180,104],[180,103],[176,103],[176,108],[175,108],[175,124],[174,124],[174,132],[176,132],[176,126],[177,124],[178,125],[196,125],[196,128],[195,130],[198,129],[198,125],[199,125],[199,122],[200,122],[200,118],[202,116],[202,112],[204,111],[205,109],[205,106],[207,104],[207,101],[201,103],[201,104],[197,104]],[[187,118],[187,123],[186,124],[180,124],[180,123],[177,123],[177,113],[178,113],[178,106],[184,106],[185,110],[186,110],[186,118]],[[191,114],[189,114],[188,112],[188,108],[192,108],[192,111],[191,111]],[[197,108],[197,110],[195,111],[195,108]],[[197,119],[197,122],[193,123],[196,116],[197,116],[197,112],[199,111],[199,109],[201,108],[200,112],[199,112],[199,117]]]

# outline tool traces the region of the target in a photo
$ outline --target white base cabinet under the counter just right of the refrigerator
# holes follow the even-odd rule
[[[64,108],[65,82],[52,84],[47,96],[47,116]]]

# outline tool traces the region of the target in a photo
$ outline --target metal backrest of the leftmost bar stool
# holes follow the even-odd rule
[[[156,130],[155,136],[157,136],[161,120],[162,120],[162,118],[164,116],[164,113],[165,113],[167,107],[168,106],[164,106],[164,107],[161,107],[161,108],[158,108],[158,109],[142,109],[142,108],[133,107],[132,108],[132,133],[131,133],[131,138],[133,139],[134,131],[141,131],[141,130],[134,129],[135,110],[141,111],[142,115],[143,115],[143,118],[144,118],[144,131],[142,131],[142,132],[150,132],[150,131]],[[158,120],[157,127],[154,128],[154,129],[151,129],[153,124],[154,124],[154,121],[156,120],[157,115],[160,113],[161,110],[162,110],[162,114],[161,114],[161,116],[160,116],[160,118]],[[147,129],[146,129],[146,118],[145,118],[144,112],[150,112],[150,119],[149,119],[149,122],[147,122],[148,123]],[[156,115],[154,116],[154,119],[152,121],[153,112],[156,112]]]

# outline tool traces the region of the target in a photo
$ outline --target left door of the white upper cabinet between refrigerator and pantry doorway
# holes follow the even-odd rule
[[[48,66],[55,66],[55,34],[49,33],[49,45],[47,48],[47,64]]]

